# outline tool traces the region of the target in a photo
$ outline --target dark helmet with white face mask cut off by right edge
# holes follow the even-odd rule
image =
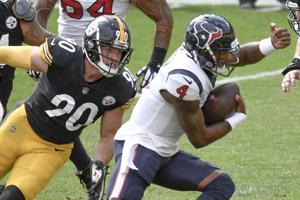
[[[300,0],[287,0],[285,7],[289,9],[291,12],[287,15],[287,21],[290,24],[290,27],[296,32],[296,34],[300,37],[300,30],[299,30],[299,19],[297,19],[297,11],[300,11]]]

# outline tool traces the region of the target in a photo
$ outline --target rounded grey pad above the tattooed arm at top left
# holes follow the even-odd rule
[[[30,0],[17,0],[13,6],[13,13],[25,22],[32,22],[35,17],[35,11]]]

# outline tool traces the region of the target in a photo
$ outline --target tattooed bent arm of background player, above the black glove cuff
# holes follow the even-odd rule
[[[173,16],[165,0],[132,0],[155,24],[153,46],[168,49],[173,29]]]

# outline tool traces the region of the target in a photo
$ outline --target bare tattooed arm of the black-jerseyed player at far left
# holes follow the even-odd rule
[[[34,19],[33,22],[23,22],[20,20],[22,32],[23,32],[23,42],[31,46],[40,46],[45,42],[47,37],[55,37],[51,32],[46,31]]]

